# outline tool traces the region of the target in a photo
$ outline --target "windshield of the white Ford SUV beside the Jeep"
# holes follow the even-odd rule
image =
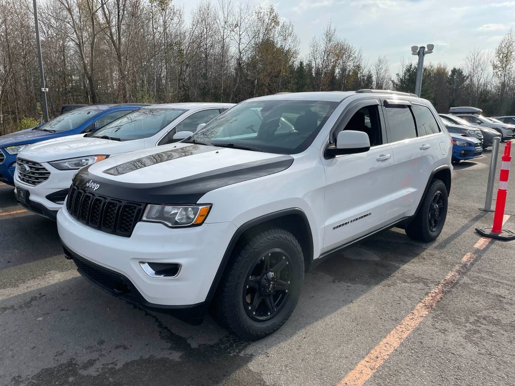
[[[148,138],[163,130],[186,111],[165,108],[139,109],[112,121],[91,136],[115,138],[119,141]]]

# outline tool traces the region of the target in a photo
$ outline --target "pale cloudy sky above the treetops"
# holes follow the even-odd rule
[[[177,0],[175,4],[188,15],[200,1]],[[417,61],[417,57],[411,56],[413,45],[435,45],[433,54],[425,58],[426,63],[461,66],[468,52],[493,51],[510,27],[515,26],[515,1],[248,1],[251,5],[272,4],[283,19],[294,23],[301,56],[307,54],[313,36],[319,36],[331,22],[340,38],[363,50],[369,64],[386,56],[392,75],[400,71],[403,62]]]

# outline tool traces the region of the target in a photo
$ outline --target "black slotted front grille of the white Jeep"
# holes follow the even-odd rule
[[[72,185],[66,210],[80,222],[102,232],[130,237],[140,221],[143,205],[96,195]]]

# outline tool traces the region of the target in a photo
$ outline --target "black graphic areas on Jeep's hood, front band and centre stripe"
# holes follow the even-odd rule
[[[121,176],[162,162],[217,150],[220,149],[214,146],[185,146],[125,162],[105,170],[104,173],[111,176]],[[143,184],[118,182],[105,177],[98,177],[89,172],[90,165],[76,174],[73,184],[86,192],[124,201],[152,204],[195,204],[211,190],[278,173],[289,168],[293,161],[293,157],[289,155],[279,155],[271,159],[193,174],[177,180]],[[170,168],[173,167],[174,163],[172,162]]]

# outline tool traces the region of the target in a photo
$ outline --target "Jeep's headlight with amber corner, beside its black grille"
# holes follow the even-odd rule
[[[211,204],[147,205],[142,221],[160,222],[166,226],[200,225],[208,217]]]

